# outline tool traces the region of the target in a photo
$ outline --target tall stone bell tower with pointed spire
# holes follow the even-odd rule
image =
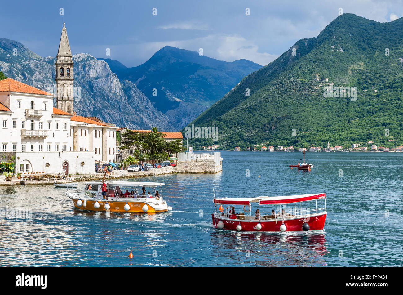
[[[59,51],[56,56],[56,107],[64,112],[74,112],[73,55],[67,30],[63,23]]]

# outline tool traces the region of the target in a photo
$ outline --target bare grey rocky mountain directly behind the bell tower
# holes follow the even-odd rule
[[[75,54],[73,60],[77,114],[97,116],[120,127],[177,130],[135,84],[119,81],[107,62],[84,53]],[[9,78],[55,93],[55,61],[50,56],[42,58],[17,41],[0,39],[0,71]]]

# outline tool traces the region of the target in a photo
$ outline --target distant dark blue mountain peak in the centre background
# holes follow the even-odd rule
[[[172,46],[132,68],[116,60],[99,59],[109,64],[120,81],[134,83],[177,129],[222,98],[245,75],[262,67],[245,59],[225,62]]]

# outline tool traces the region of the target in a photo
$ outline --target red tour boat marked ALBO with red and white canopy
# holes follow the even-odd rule
[[[318,208],[318,200],[324,203],[323,208]],[[212,214],[213,226],[232,231],[322,231],[327,214],[325,193],[280,197],[214,197],[213,202],[214,206],[220,205]],[[255,211],[255,208],[251,210],[251,203],[258,203],[259,211]],[[313,209],[306,207],[309,204]],[[229,206],[224,210],[222,205]],[[243,212],[237,213],[234,205],[243,205]]]

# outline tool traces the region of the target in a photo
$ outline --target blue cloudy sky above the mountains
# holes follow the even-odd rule
[[[298,39],[316,37],[339,8],[380,22],[403,16],[401,0],[23,0],[3,1],[1,7],[0,38],[17,40],[40,56],[55,56],[65,21],[73,54],[112,58],[126,66],[145,62],[165,45],[265,65]]]

